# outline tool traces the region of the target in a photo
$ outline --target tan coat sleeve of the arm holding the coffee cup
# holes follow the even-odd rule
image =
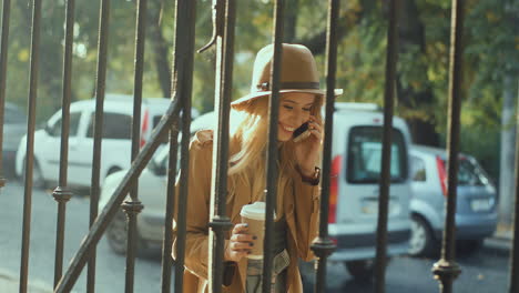
[[[201,142],[195,138],[190,145],[190,168],[187,175],[187,210],[185,269],[199,277],[207,279],[208,263],[208,214],[211,203],[212,141]],[[182,171],[181,171],[182,172]],[[176,260],[177,244],[177,199],[180,178],[175,184],[175,212],[173,221],[173,259]]]

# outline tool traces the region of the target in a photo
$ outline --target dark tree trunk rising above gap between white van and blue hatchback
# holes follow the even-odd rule
[[[418,9],[414,0],[405,0],[401,4],[398,26],[398,50],[406,53],[409,47],[418,47],[421,53],[426,53],[425,26],[419,19]],[[397,99],[400,105],[409,110],[430,108],[434,103],[434,94],[430,85],[425,84],[420,91],[404,88],[400,75],[397,77]],[[432,113],[430,113],[432,115]],[[439,135],[435,125],[429,122],[434,117],[424,119],[407,119],[415,143],[432,146],[439,145]]]

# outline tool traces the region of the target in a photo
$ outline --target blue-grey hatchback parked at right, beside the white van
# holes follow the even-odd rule
[[[409,254],[431,255],[439,251],[447,196],[447,153],[444,149],[413,145],[411,239]],[[456,239],[472,250],[496,230],[496,188],[476,159],[458,158]]]

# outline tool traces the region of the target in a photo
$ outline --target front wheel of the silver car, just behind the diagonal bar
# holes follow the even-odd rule
[[[128,245],[128,223],[126,214],[124,211],[120,210],[115,213],[115,216],[110,222],[106,228],[106,239],[110,244],[110,247],[118,254],[126,253]],[[139,235],[139,232],[135,236],[136,241],[136,251],[138,253],[145,249],[145,242]]]

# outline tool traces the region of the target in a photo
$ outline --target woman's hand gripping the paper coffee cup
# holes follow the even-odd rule
[[[227,249],[225,250],[225,261],[238,262],[243,256],[251,253],[253,240],[255,240],[256,236],[251,235],[247,232],[247,224],[240,223],[234,225]]]

